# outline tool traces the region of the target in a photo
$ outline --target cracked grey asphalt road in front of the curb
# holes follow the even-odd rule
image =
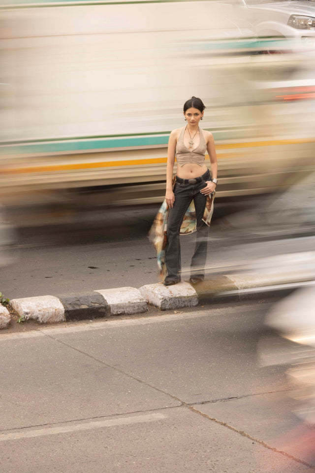
[[[2,331],[1,472],[314,471],[286,367],[259,361],[269,307]]]

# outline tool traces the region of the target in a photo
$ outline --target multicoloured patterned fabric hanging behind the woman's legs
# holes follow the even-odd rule
[[[213,214],[213,201],[216,192],[207,196],[205,211],[203,214],[203,222],[210,227],[210,222]],[[166,201],[162,203],[153,225],[149,231],[148,238],[157,250],[158,258],[158,270],[162,281],[166,277],[166,265],[165,265],[165,250],[167,243],[167,219],[168,219],[169,206]],[[189,204],[189,207],[184,215],[183,223],[180,229],[180,235],[189,235],[196,231],[196,211],[193,200]]]

